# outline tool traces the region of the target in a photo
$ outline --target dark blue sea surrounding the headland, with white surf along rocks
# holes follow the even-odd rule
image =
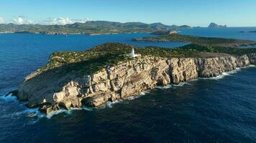
[[[256,27],[180,29],[180,34],[250,39]],[[240,31],[244,31],[243,33]],[[157,87],[136,97],[46,115],[12,94],[54,51],[106,42],[176,48],[186,43],[131,39],[150,34],[0,34],[0,142],[256,142],[256,68]],[[256,47],[255,47],[256,48]],[[7,94],[7,95],[6,95]],[[37,94],[37,93],[35,93]],[[35,112],[34,117],[28,117]]]

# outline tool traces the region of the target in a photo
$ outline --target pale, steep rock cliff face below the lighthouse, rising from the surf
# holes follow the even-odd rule
[[[256,64],[256,54],[214,58],[160,58],[142,56],[91,75],[61,74],[61,70],[28,78],[19,88],[19,99],[47,114],[60,108],[98,107],[126,99],[158,85],[179,84],[198,77],[215,77],[236,67]]]

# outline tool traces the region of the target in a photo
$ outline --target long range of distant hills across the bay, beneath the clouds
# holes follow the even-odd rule
[[[112,22],[87,21],[66,25],[40,25],[40,24],[0,24],[0,33],[17,34],[126,34],[139,32],[153,32],[170,29],[188,29],[191,26],[165,25],[161,23],[145,24],[141,22]]]

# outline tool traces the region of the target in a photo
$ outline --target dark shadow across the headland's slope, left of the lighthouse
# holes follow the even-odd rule
[[[29,92],[30,96],[45,97],[47,94],[62,91],[63,87],[70,81],[83,85],[85,76],[125,59],[125,56],[117,54],[104,54],[86,61],[64,64],[63,66],[42,71],[32,79],[23,82],[21,87],[26,89],[27,91],[25,92]]]

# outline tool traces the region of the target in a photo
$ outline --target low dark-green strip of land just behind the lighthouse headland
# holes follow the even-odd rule
[[[246,46],[255,45],[256,41],[241,39],[224,39],[213,37],[190,36],[181,34],[165,34],[160,36],[145,36],[134,41],[180,41],[204,46]]]

